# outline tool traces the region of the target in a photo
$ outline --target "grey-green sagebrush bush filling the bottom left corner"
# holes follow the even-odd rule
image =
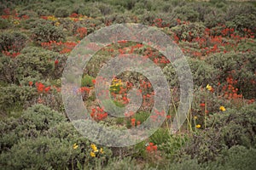
[[[72,156],[73,148],[67,141],[39,137],[20,140],[9,152],[1,155],[1,164],[8,169],[65,168]]]

